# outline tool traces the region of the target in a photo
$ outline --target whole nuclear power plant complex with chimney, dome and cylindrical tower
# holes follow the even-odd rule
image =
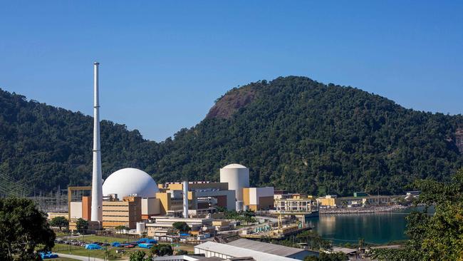
[[[219,181],[175,181],[158,184],[150,174],[137,168],[123,168],[103,180],[100,150],[99,63],[93,63],[93,173],[91,186],[68,187],[70,229],[77,220],[88,220],[90,231],[126,227],[150,237],[172,234],[175,222],[186,222],[190,234],[198,238],[233,229],[238,223],[227,220],[224,211],[275,211],[281,200],[291,198],[296,205],[316,206],[316,201],[298,194],[276,192],[273,187],[251,187],[249,168],[238,163],[218,170]],[[211,170],[217,171],[217,170]],[[305,198],[304,198],[305,197]],[[276,200],[278,204],[276,204]],[[293,202],[291,201],[291,203]],[[284,208],[284,207],[283,207]],[[282,212],[281,212],[282,213]],[[313,214],[317,210],[311,210]],[[53,213],[52,213],[53,214]],[[299,213],[301,214],[301,213]],[[306,215],[306,214],[303,214]]]

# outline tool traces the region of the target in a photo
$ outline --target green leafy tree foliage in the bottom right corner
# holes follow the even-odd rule
[[[463,260],[463,169],[448,183],[419,180],[413,185],[421,190],[415,205],[422,211],[407,216],[405,230],[410,240],[398,250],[372,250],[378,260]],[[427,208],[435,206],[435,215]]]

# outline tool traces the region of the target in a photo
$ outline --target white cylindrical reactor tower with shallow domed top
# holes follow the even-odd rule
[[[230,164],[220,169],[220,182],[228,183],[229,190],[235,190],[236,200],[243,200],[243,188],[249,188],[249,168]]]

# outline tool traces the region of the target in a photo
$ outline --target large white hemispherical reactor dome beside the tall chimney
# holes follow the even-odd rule
[[[103,195],[117,194],[119,200],[130,195],[155,198],[159,192],[155,180],[143,170],[123,168],[109,175],[103,183]]]

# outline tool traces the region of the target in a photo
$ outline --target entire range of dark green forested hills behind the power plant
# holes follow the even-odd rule
[[[201,123],[162,143],[103,121],[103,176],[130,166],[158,182],[217,180],[220,167],[241,163],[251,185],[401,193],[411,180],[443,180],[463,166],[461,126],[462,116],[290,76],[232,89]],[[89,184],[92,128],[90,116],[0,91],[0,171],[42,190]]]

